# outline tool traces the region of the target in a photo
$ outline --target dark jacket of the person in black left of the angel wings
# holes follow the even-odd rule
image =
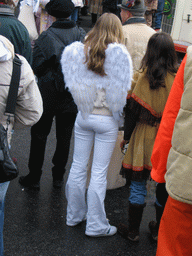
[[[44,112],[77,112],[71,94],[65,89],[60,58],[65,46],[82,42],[85,35],[74,21],[59,19],[35,41],[32,68],[38,77]]]

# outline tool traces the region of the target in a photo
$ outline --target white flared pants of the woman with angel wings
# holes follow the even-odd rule
[[[67,225],[75,226],[87,219],[86,234],[106,234],[110,228],[104,199],[107,170],[115,147],[118,123],[112,116],[89,115],[84,120],[78,113],[75,122],[75,145],[71,170],[66,184]],[[91,178],[85,200],[87,164],[94,144]]]

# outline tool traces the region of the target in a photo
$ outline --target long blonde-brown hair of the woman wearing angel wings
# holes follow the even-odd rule
[[[104,13],[85,39],[87,67],[93,72],[105,76],[105,50],[110,43],[124,44],[124,35],[120,19],[112,13]]]

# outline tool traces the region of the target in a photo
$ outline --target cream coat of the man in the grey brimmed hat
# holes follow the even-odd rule
[[[133,70],[139,70],[149,38],[156,32],[146,24],[133,23],[124,25],[123,33],[125,45],[133,61]]]

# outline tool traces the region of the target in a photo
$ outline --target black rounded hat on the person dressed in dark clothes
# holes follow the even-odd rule
[[[53,17],[68,18],[72,14],[74,7],[71,0],[50,0],[45,6],[45,10]]]

